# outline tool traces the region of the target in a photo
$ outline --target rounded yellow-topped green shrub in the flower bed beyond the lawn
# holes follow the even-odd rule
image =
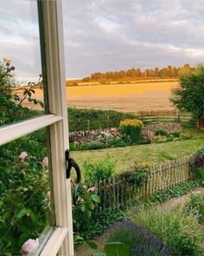
[[[133,143],[142,141],[143,122],[137,119],[120,121],[119,129],[123,135],[129,135]]]

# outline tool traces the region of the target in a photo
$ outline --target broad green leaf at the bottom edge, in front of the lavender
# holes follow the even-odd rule
[[[107,256],[129,256],[128,248],[123,243],[113,242],[105,245]]]

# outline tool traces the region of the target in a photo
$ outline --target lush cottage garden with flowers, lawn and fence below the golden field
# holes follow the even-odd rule
[[[43,107],[35,100],[34,83],[22,97],[13,94],[13,70],[9,61],[0,65],[1,126],[43,114],[22,104]],[[92,111],[71,112],[80,120]],[[132,114],[111,114],[118,116],[112,128],[98,120],[94,129],[69,136],[82,170],[80,187],[72,176],[76,252],[84,244],[97,250],[94,240],[102,235],[104,248],[94,256],[203,255],[203,194],[167,212],[159,207],[203,187],[203,132],[178,119],[146,124]],[[54,225],[48,133],[41,129],[0,148],[1,254],[34,252]]]

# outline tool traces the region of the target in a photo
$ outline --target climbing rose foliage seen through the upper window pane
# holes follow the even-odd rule
[[[14,94],[15,67],[10,64],[9,59],[3,61],[4,63],[0,62],[0,125],[41,114],[39,111],[30,111],[29,108],[22,106],[22,102],[28,101],[43,107],[43,103],[32,96],[35,94],[35,83],[29,83],[29,88],[24,89],[22,97]]]

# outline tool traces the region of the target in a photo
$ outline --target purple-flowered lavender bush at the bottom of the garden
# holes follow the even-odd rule
[[[105,233],[108,242],[124,243],[132,256],[170,255],[162,241],[131,221],[114,223]]]

